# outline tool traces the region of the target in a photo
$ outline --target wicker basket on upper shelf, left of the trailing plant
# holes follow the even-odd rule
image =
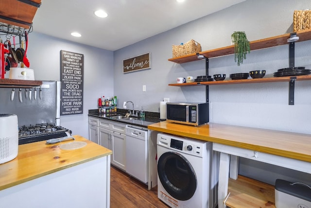
[[[200,43],[190,39],[183,45],[173,45],[173,58],[201,52]]]

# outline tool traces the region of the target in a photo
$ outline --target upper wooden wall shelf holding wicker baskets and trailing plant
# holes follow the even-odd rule
[[[299,40],[297,40],[296,42],[311,39],[311,30],[299,31],[296,34],[299,37]],[[287,33],[284,35],[275,36],[271,38],[264,38],[264,39],[250,41],[250,49],[258,50],[258,49],[269,48],[269,47],[278,46],[278,45],[285,45],[285,44],[288,44],[287,38],[289,38],[290,36],[291,34]],[[207,58],[221,57],[225,55],[234,54],[234,45],[226,46],[223,48],[217,48],[217,49],[213,49],[209,51],[202,51],[199,54]],[[186,62],[202,60],[202,59],[198,59],[196,54],[190,54],[190,55],[186,55],[182,57],[170,58],[168,60],[173,61],[175,63],[186,63]]]

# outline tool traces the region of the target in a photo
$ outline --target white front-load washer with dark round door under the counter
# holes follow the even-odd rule
[[[157,195],[171,208],[215,208],[219,153],[212,143],[157,134]]]

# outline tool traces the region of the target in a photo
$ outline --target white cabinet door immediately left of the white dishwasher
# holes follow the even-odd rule
[[[112,136],[112,159],[111,163],[122,170],[126,170],[125,134],[113,132]]]

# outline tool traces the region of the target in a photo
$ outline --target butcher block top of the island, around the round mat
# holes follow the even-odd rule
[[[0,164],[0,190],[112,154],[82,136],[74,135],[74,138],[57,144],[40,141],[19,145],[17,157]],[[73,141],[86,142],[86,146],[75,150],[59,147]]]

